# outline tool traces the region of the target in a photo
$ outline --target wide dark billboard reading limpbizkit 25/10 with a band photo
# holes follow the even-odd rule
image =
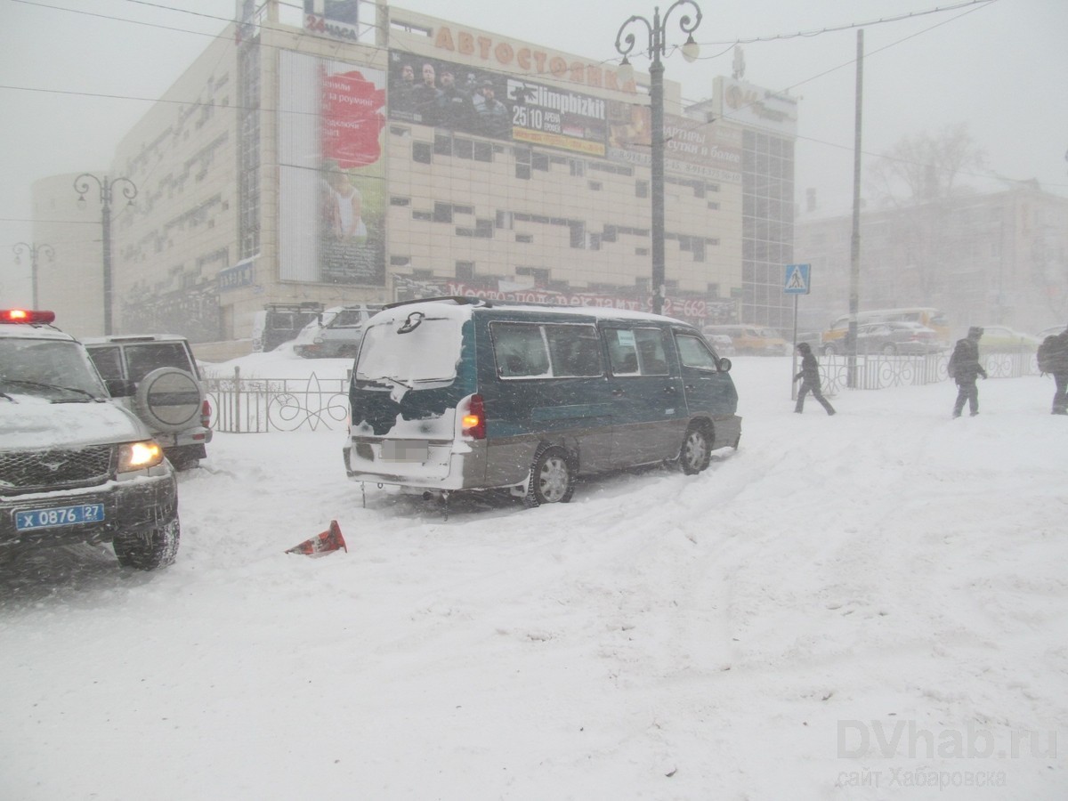
[[[389,115],[491,139],[606,154],[606,100],[441,59],[390,52]]]

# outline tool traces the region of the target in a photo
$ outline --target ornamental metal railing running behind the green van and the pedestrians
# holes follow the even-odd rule
[[[858,356],[857,389],[918,387],[946,380],[947,354],[929,356]],[[849,382],[849,358],[820,357],[823,390],[834,394]],[[991,378],[1037,375],[1034,354],[988,354],[984,367]],[[348,379],[242,378],[240,368],[225,378],[204,380],[211,402],[211,428],[229,434],[344,430],[348,425]]]

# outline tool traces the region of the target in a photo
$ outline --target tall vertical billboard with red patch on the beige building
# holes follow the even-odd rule
[[[383,286],[386,75],[283,50],[279,279]]]

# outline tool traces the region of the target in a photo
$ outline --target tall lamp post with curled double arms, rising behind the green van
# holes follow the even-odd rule
[[[660,314],[664,303],[664,67],[660,57],[665,54],[665,28],[668,18],[672,12],[682,5],[693,6],[694,16],[684,14],[678,20],[679,30],[687,34],[686,44],[682,45],[682,57],[687,61],[697,58],[698,46],[693,41],[693,32],[701,25],[701,9],[693,0],[675,0],[663,17],[660,16],[660,6],[653,12],[653,21],[645,17],[634,15],[619,27],[619,32],[615,35],[615,49],[623,56],[619,64],[624,82],[628,82],[632,76],[632,67],[627,57],[634,50],[637,45],[633,32],[624,36],[624,31],[632,23],[641,31],[641,26],[645,26],[647,45],[644,48],[653,59],[649,65],[649,127],[651,127],[651,157],[653,157],[653,312]],[[641,23],[641,25],[638,25]]]

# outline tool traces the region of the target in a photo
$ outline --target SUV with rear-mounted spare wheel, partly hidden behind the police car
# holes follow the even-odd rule
[[[197,467],[211,441],[211,405],[184,336],[82,340],[111,396],[137,414],[178,470]]]

